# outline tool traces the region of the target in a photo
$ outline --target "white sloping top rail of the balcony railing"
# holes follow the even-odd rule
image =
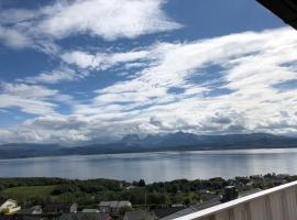
[[[274,188],[271,188],[271,189],[266,189],[266,190],[263,190],[263,191],[260,191],[260,193],[255,193],[255,194],[252,194],[250,196],[245,196],[245,197],[234,199],[234,200],[226,202],[226,204],[221,204],[221,205],[218,205],[218,206],[215,206],[215,207],[210,207],[208,209],[204,209],[201,211],[197,211],[197,212],[194,212],[194,213],[190,213],[190,215],[186,215],[184,217],[178,217],[178,218],[176,218],[174,220],[191,220],[191,219],[208,217],[208,216],[210,216],[210,215],[212,215],[215,212],[220,212],[220,211],[223,211],[223,210],[227,210],[227,209],[231,209],[231,208],[233,208],[233,207],[235,207],[238,205],[245,204],[245,202],[249,202],[251,200],[257,199],[260,197],[267,196],[270,194],[274,194],[274,193],[277,193],[277,191],[294,187],[294,186],[297,186],[297,182],[292,182],[289,184],[284,184],[282,186],[277,186],[277,187],[274,187]]]

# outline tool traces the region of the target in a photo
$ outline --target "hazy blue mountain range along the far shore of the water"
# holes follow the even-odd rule
[[[62,146],[58,144],[15,143],[0,145],[0,158],[21,158],[58,155],[90,155],[112,153],[158,152],[158,151],[204,151],[233,148],[282,148],[297,147],[297,139],[266,133],[197,135],[170,133],[166,135],[136,134],[107,144]]]

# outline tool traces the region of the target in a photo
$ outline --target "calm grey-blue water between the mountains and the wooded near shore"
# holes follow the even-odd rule
[[[266,173],[297,174],[297,148],[163,152],[0,160],[1,177],[113,178],[147,183],[224,178]]]

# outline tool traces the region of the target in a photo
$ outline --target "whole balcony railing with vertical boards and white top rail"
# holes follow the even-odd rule
[[[264,190],[175,220],[296,220],[297,182]]]

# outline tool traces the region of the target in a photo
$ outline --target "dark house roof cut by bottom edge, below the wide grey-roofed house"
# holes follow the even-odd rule
[[[58,220],[112,220],[109,213],[63,213]]]

